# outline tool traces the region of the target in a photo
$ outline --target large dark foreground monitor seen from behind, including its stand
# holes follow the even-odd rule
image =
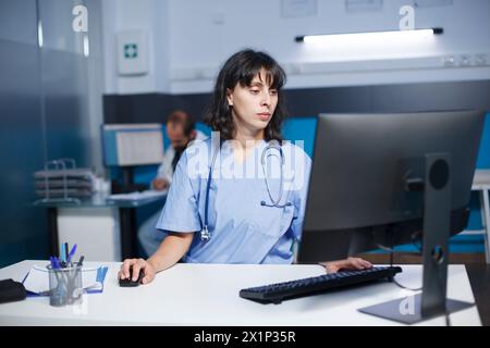
[[[455,310],[448,239],[467,224],[483,121],[477,111],[320,115],[298,262],[421,239],[421,304],[400,321]],[[370,313],[400,319],[400,300],[382,306]]]

